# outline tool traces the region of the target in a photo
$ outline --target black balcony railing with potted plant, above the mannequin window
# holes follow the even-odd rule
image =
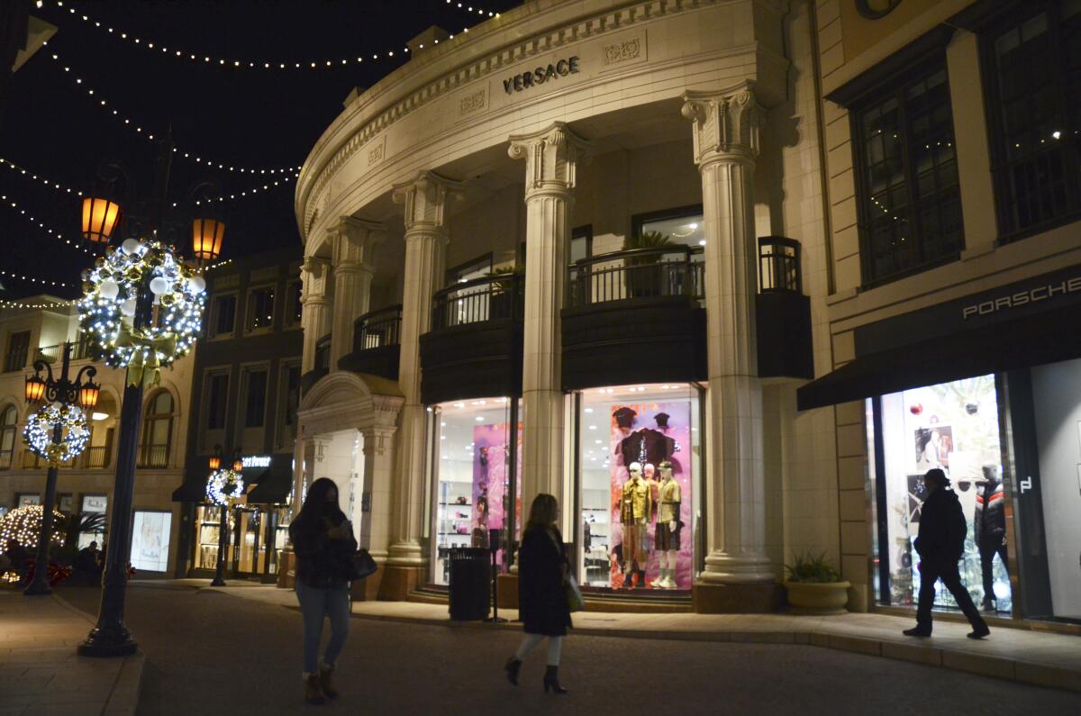
[[[582,258],[568,269],[568,306],[627,299],[705,297],[700,248],[657,247]]]

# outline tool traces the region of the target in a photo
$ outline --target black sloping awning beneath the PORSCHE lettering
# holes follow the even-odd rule
[[[800,410],[822,408],[1081,357],[1077,306],[961,331],[845,363],[796,392]]]

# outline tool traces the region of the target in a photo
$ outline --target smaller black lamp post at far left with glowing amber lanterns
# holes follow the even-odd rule
[[[34,375],[26,377],[26,401],[28,403],[58,402],[68,407],[77,402],[83,410],[92,410],[97,405],[101,385],[93,382],[97,370],[93,366],[84,366],[76,375],[75,381],[68,380],[68,367],[71,362],[71,344],[64,344],[59,379],[53,377],[53,367],[44,360],[34,361]],[[41,377],[45,371],[45,377]],[[83,381],[85,376],[85,382]],[[64,439],[63,426],[57,421],[53,426],[53,442]],[[56,506],[56,473],[57,461],[49,461],[49,472],[45,473],[45,504],[41,513],[41,533],[38,535],[38,557],[34,569],[34,580],[26,585],[23,594],[28,597],[51,594],[49,588],[49,545],[53,534],[53,508]]]

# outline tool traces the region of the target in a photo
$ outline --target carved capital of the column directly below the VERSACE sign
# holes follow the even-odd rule
[[[525,199],[545,194],[570,195],[578,163],[589,160],[592,144],[564,122],[530,134],[510,135],[507,154],[525,160]]]

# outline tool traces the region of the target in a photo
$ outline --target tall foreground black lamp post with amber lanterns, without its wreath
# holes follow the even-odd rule
[[[139,247],[137,239],[142,238],[159,240],[170,246],[172,242],[169,240],[169,235],[173,231],[168,229],[173,227],[165,224],[165,208],[172,156],[172,142],[169,138],[161,140],[158,144],[152,194],[144,202],[142,211],[125,211],[114,200],[116,184],[123,180],[130,188],[130,183],[126,182],[128,176],[119,165],[106,165],[102,178],[108,184],[109,190],[104,195],[86,197],[82,201],[83,236],[92,242],[107,247],[115,229],[122,226],[121,233],[130,237],[124,241],[124,250],[129,248],[129,241],[136,239],[131,248],[137,251]],[[205,190],[212,186],[204,183],[196,190]],[[204,194],[203,198],[206,196]],[[208,205],[211,202],[201,203]],[[222,247],[222,235],[225,231],[224,226],[224,222],[219,220],[206,221],[203,217],[195,220],[191,229],[192,248],[198,260],[209,261],[217,257]],[[208,237],[210,241],[204,241],[204,234],[210,235]],[[110,287],[114,296],[115,287],[115,283]],[[134,295],[126,302],[130,305],[121,307],[121,311],[125,309],[129,311],[124,315],[130,318],[131,334],[154,332],[159,321],[159,309],[162,307],[161,296],[166,291],[168,286],[160,276],[154,276],[154,271],[145,271],[136,279]],[[112,491],[109,548],[102,578],[102,602],[97,623],[78,648],[78,652],[84,657],[124,657],[134,653],[137,648],[137,644],[124,625],[124,597],[128,584],[128,559],[131,552],[132,498],[143,417],[143,389],[146,383],[144,371],[149,370],[151,375],[156,374],[157,367],[150,360],[156,360],[159,354],[156,349],[150,349],[142,355],[147,360],[146,366],[124,363],[128,375],[120,409],[120,438]]]

